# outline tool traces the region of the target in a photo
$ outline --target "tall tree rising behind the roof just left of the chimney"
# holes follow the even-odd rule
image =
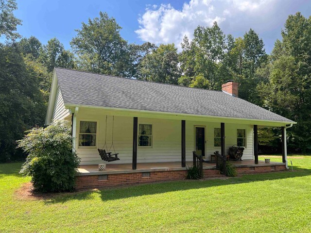
[[[214,22],[212,27],[197,27],[193,36],[191,42],[185,36],[181,44],[183,51],[179,59],[184,76],[179,83],[221,89],[221,84],[230,76],[223,63],[228,46],[225,34]]]

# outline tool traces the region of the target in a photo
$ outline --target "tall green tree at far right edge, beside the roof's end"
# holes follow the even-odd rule
[[[297,122],[289,146],[311,151],[311,17],[286,20],[268,64],[268,83],[258,86],[263,106]]]

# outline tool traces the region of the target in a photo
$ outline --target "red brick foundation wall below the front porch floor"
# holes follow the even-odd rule
[[[237,167],[241,173],[263,173],[284,171],[285,165]],[[151,171],[107,175],[86,175],[76,177],[76,189],[116,186],[121,184],[151,183],[185,179],[187,170]],[[204,178],[222,177],[219,170],[204,169]]]

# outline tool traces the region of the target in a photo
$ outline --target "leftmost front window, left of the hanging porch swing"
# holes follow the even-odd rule
[[[96,131],[96,121],[80,121],[79,147],[95,147]]]

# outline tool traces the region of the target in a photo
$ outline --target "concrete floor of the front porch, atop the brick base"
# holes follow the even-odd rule
[[[276,166],[285,165],[284,163],[271,162],[265,164],[264,161],[259,160],[259,164],[255,164],[254,160],[230,161],[236,167],[250,167],[250,166]],[[104,161],[103,161],[104,164]],[[192,161],[186,162],[186,167],[192,166]],[[89,175],[104,175],[104,174],[120,174],[120,173],[135,173],[135,172],[150,172],[150,171],[174,171],[186,170],[186,167],[181,167],[181,162],[168,162],[168,163],[138,163],[137,169],[132,170],[132,164],[109,164],[106,163],[104,171],[98,170],[98,165],[81,165],[78,168],[79,173],[77,176]],[[203,169],[214,169],[216,163],[203,163]]]

